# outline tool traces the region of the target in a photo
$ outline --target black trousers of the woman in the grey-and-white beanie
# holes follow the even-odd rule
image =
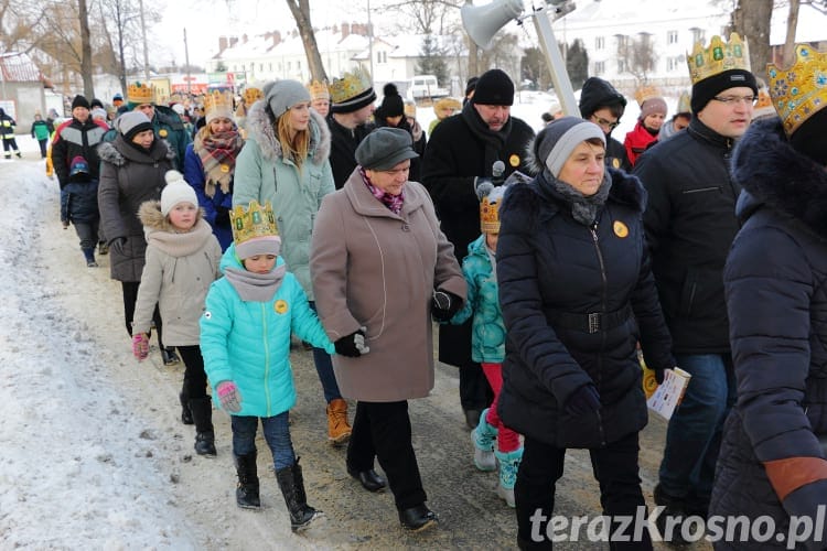
[[[638,433],[633,432],[604,447],[589,450],[594,478],[600,485],[600,505],[603,515],[634,517],[646,501],[641,490],[637,456]],[[514,498],[517,514],[517,541],[520,549],[551,549],[548,540],[548,519],[555,514],[557,480],[562,477],[566,450],[526,436],[523,443],[523,461],[517,471]],[[537,512],[541,515],[537,515]],[[593,512],[592,512],[593,515]],[[531,518],[536,520],[533,521]],[[545,518],[543,522],[540,518]],[[622,521],[612,521],[609,534],[614,536]],[[554,531],[551,531],[554,533]],[[609,549],[651,550],[648,530],[634,541],[634,527],[625,527],[625,537],[631,541],[610,541]]]

